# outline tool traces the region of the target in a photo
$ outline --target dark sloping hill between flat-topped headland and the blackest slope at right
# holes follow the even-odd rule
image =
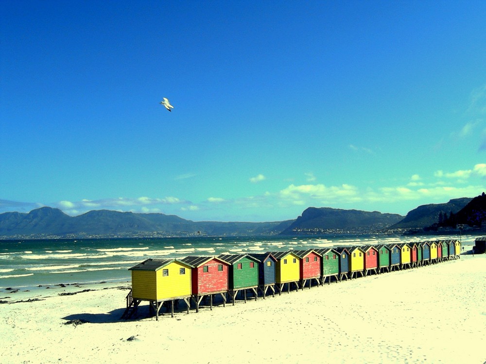
[[[416,209],[410,211],[403,220],[390,226],[388,229],[423,229],[438,222],[440,214],[455,214],[471,200],[471,198],[464,197],[461,199],[451,199],[447,203],[431,203],[418,206]]]

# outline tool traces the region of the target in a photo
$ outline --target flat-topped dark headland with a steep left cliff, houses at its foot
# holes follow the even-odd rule
[[[378,232],[397,223],[402,218],[403,216],[398,214],[382,214],[378,211],[309,207],[281,234]]]

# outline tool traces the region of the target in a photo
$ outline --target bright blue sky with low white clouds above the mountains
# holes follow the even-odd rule
[[[0,213],[405,215],[486,190],[485,1],[0,12]]]

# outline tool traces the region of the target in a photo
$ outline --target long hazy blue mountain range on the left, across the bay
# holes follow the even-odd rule
[[[30,213],[0,214],[1,237],[155,237],[276,234],[288,222],[194,222],[175,215],[135,214],[109,210],[69,216],[42,207]]]

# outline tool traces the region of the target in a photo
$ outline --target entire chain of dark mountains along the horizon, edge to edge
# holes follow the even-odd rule
[[[447,216],[447,218],[444,218]],[[69,216],[41,207],[29,213],[0,214],[0,238],[257,236],[437,230],[456,224],[478,226],[486,219],[486,196],[418,206],[406,216],[378,211],[309,207],[293,220],[276,222],[195,222],[175,215],[94,210]],[[447,225],[448,224],[448,225]]]

